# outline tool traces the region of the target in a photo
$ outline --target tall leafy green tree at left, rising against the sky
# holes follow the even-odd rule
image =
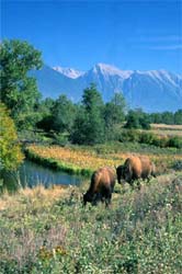
[[[30,121],[34,123],[34,107],[41,94],[36,80],[27,72],[41,68],[41,52],[27,42],[5,39],[0,44],[0,64],[1,101],[11,110],[11,116],[19,127],[30,125]]]

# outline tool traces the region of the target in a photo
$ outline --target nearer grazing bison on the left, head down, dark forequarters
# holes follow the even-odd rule
[[[105,207],[107,207],[111,203],[115,179],[115,170],[112,168],[101,168],[93,172],[90,187],[83,195],[83,205],[86,206],[87,202],[95,205],[98,201],[105,201]]]

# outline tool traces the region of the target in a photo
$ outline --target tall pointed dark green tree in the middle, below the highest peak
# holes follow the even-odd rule
[[[104,139],[103,101],[94,84],[83,91],[71,139],[73,142],[88,145]]]

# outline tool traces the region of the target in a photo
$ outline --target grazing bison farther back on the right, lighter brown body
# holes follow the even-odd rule
[[[149,180],[150,175],[156,176],[156,167],[147,156],[132,156],[126,159],[123,165],[116,168],[116,173],[120,184],[122,179],[133,184],[134,180]]]

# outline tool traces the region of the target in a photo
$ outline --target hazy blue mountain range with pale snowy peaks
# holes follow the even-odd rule
[[[94,82],[105,102],[115,92],[122,92],[130,109],[141,107],[146,112],[182,109],[182,75],[166,70],[121,70],[96,64],[88,71],[44,66],[31,75],[37,79],[43,98],[56,99],[64,93],[78,102],[83,90]]]

